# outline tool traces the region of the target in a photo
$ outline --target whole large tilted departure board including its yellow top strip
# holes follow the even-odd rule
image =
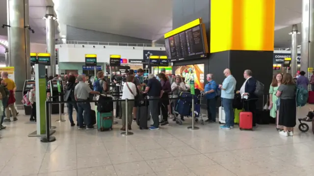
[[[209,52],[202,19],[174,29],[166,33],[164,37],[166,53],[170,61],[201,58]]]

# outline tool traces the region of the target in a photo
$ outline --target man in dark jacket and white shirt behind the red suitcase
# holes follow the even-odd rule
[[[256,101],[258,97],[255,95],[256,79],[252,77],[252,71],[245,70],[243,74],[245,81],[239,91],[243,95],[244,110],[253,114],[253,127],[256,127]],[[247,99],[247,100],[245,100]]]

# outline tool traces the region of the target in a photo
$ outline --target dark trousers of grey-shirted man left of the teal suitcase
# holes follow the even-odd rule
[[[86,101],[82,99],[78,99],[78,101]],[[90,117],[90,103],[89,102],[78,102],[78,126],[83,127],[83,123],[85,122],[87,127],[92,127],[91,117]],[[84,115],[83,115],[84,112]]]

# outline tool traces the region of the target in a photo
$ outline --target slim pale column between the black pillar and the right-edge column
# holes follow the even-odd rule
[[[298,43],[297,43],[297,35],[298,35],[298,26],[292,25],[291,31],[291,75],[295,75],[297,71],[297,57],[298,57]]]

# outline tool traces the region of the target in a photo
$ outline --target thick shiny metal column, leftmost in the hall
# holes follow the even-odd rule
[[[28,8],[28,0],[7,0],[8,64],[15,69],[17,90],[22,90],[24,81],[30,79]],[[17,93],[16,101],[21,100],[21,93]]]

